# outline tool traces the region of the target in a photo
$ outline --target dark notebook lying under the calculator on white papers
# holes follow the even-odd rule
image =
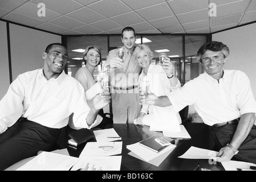
[[[158,153],[158,152],[160,152],[161,150],[163,150],[167,146],[162,146],[161,144],[156,142],[155,139],[157,139],[157,138],[164,138],[164,139],[168,140],[168,142],[170,142],[171,144],[175,143],[175,140],[173,140],[173,139],[170,139],[168,137],[164,137],[162,135],[156,134],[156,135],[153,135],[152,137],[149,137],[149,138],[147,138],[145,140],[142,140],[141,142],[139,142],[139,144],[141,146],[147,147],[150,150],[155,151],[155,152]]]

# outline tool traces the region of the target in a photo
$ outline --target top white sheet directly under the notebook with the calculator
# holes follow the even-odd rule
[[[149,162],[149,160],[152,160],[154,158],[156,158],[157,156],[160,156],[162,154],[164,154],[165,152],[169,151],[169,150],[173,150],[176,146],[174,144],[170,144],[169,146],[167,146],[166,148],[164,148],[163,150],[161,150],[160,152],[154,152],[144,146],[141,146],[139,144],[139,142],[134,143],[134,144],[130,144],[128,146],[126,146],[129,150],[131,150],[133,153],[135,153],[136,155],[140,156],[140,158],[144,159],[145,161]]]

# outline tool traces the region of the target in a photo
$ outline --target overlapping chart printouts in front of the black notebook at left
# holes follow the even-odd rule
[[[97,142],[87,142],[71,171],[120,171],[123,142],[112,129],[94,131]]]

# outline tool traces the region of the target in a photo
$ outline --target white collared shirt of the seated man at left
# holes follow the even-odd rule
[[[36,69],[19,75],[0,101],[0,133],[22,115],[40,125],[58,129],[66,126],[74,113],[75,126],[91,129],[99,125],[102,118],[98,115],[88,126],[89,111],[84,88],[75,78],[63,71],[58,78],[47,80],[43,69]]]

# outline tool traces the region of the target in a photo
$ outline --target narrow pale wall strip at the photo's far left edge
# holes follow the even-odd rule
[[[0,99],[5,96],[8,86],[10,85],[9,78],[9,60],[7,47],[7,30],[6,23],[0,21]]]

